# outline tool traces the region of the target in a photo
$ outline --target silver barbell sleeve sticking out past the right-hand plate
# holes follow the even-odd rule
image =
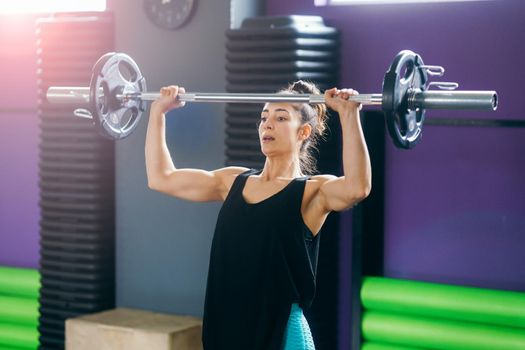
[[[498,108],[496,91],[421,91],[409,92],[409,109],[481,109]]]

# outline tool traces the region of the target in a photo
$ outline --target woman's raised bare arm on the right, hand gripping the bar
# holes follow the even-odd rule
[[[341,211],[365,199],[372,188],[372,169],[359,110],[361,105],[348,100],[357,95],[351,89],[330,89],[325,92],[328,107],[339,113],[343,140],[343,171],[322,183],[318,192],[323,211]]]

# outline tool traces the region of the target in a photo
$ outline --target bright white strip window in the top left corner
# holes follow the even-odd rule
[[[105,10],[106,0],[0,0],[0,14]]]

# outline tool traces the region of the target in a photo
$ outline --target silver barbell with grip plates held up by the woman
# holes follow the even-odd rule
[[[443,76],[441,66],[423,63],[410,50],[399,52],[383,80],[383,92],[360,94],[350,99],[362,105],[381,105],[389,134],[398,148],[409,149],[421,139],[426,109],[496,110],[495,91],[458,91],[457,83],[429,82],[431,76]],[[439,90],[430,90],[436,86]],[[76,109],[78,117],[93,119],[101,133],[111,139],[123,139],[137,127],[145,102],[159,98],[147,92],[146,80],[135,61],[124,53],[107,53],[94,65],[89,87],[49,87],[49,103],[85,105]],[[202,93],[178,95],[184,102],[226,103],[324,103],[324,95]]]

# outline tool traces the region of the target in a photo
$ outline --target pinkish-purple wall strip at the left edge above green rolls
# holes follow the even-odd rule
[[[33,16],[0,16],[0,265],[38,266]]]

